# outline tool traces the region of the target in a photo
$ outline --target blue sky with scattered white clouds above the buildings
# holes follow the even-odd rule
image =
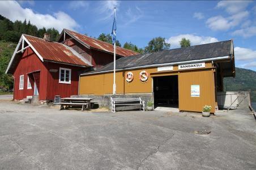
[[[236,67],[256,71],[256,1],[0,1],[0,14],[42,28],[63,28],[98,37],[111,33],[117,8],[117,39],[147,46],[164,37],[171,48],[234,41]]]

